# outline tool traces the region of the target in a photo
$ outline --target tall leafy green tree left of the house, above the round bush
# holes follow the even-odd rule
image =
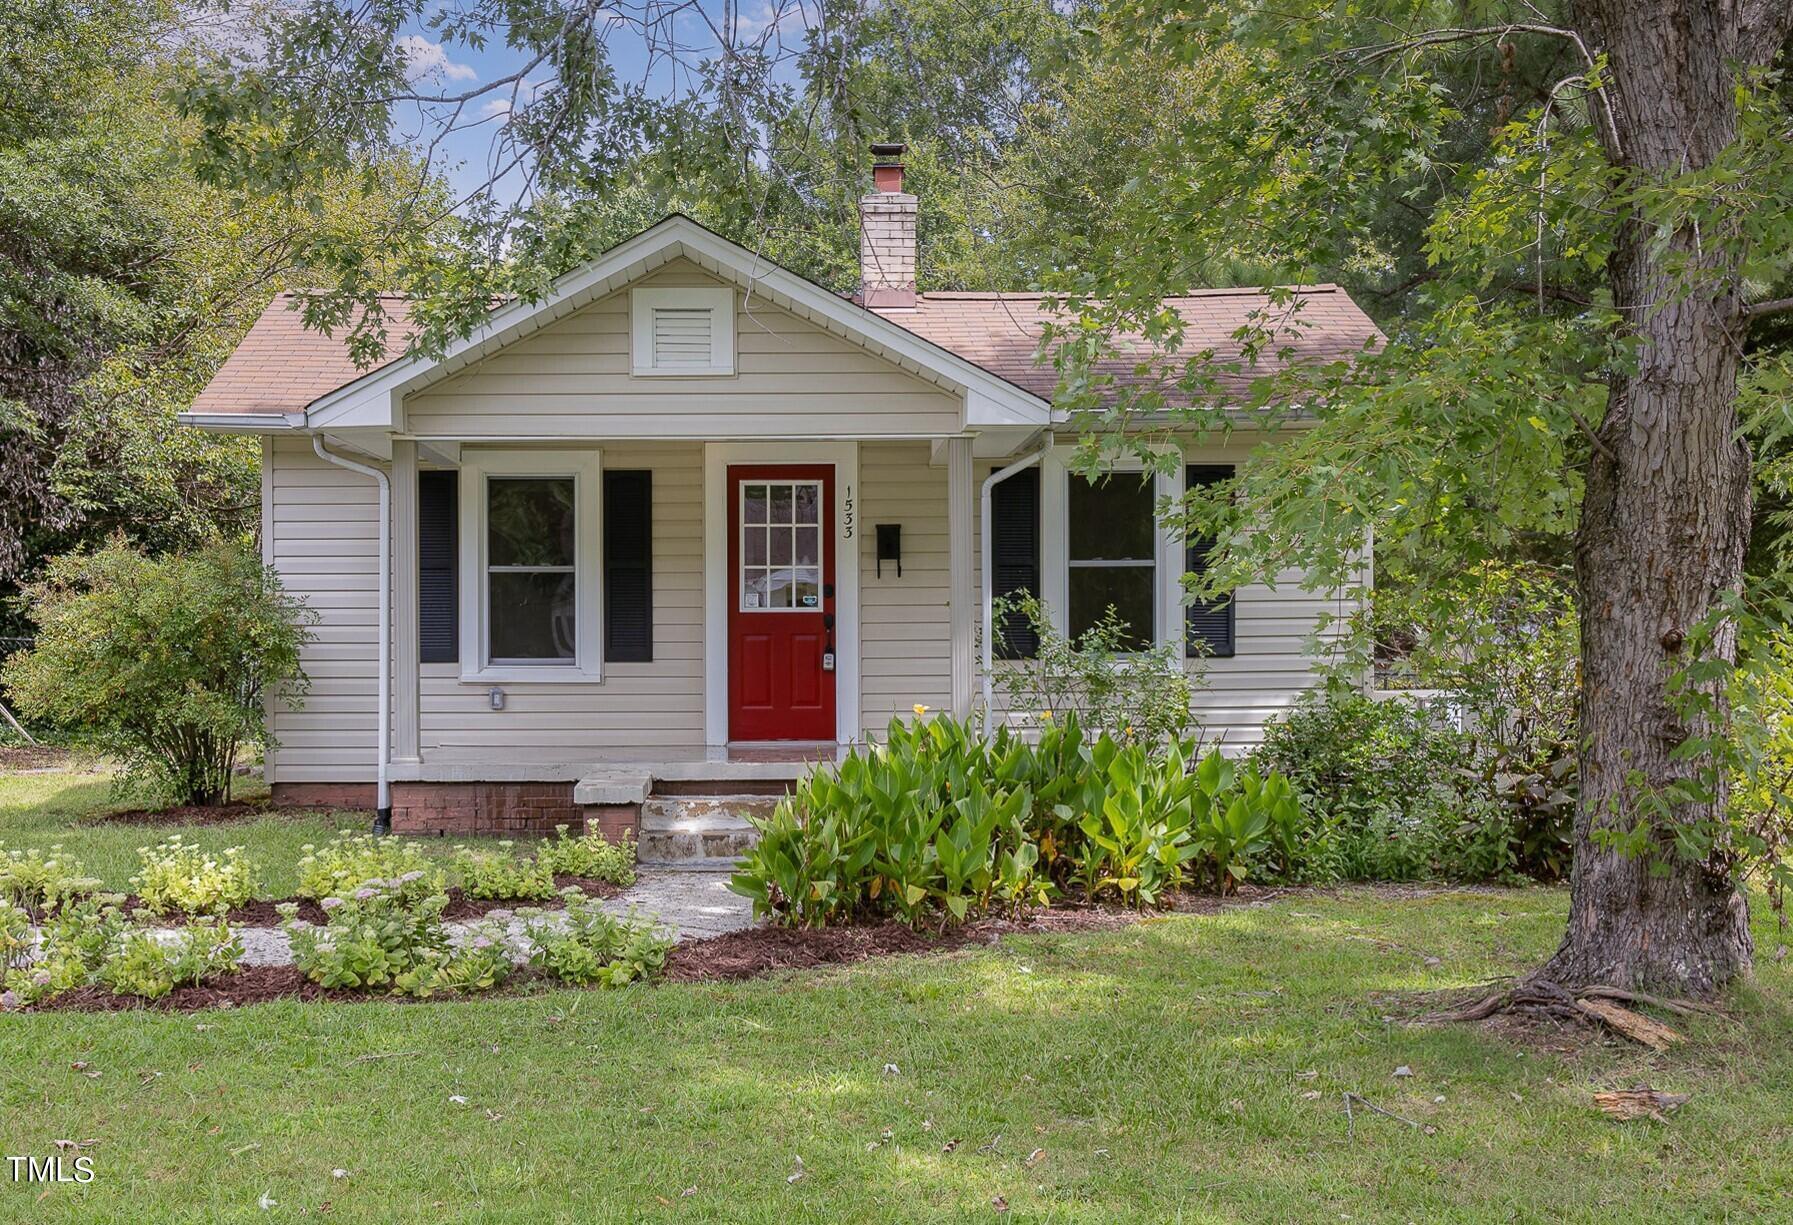
[[[0,599],[115,531],[158,551],[251,533],[260,448],[174,413],[317,251],[360,246],[420,187],[396,154],[317,176],[305,204],[201,183],[167,90],[228,32],[203,14],[22,0],[5,20]],[[23,631],[0,604],[0,633]]]

